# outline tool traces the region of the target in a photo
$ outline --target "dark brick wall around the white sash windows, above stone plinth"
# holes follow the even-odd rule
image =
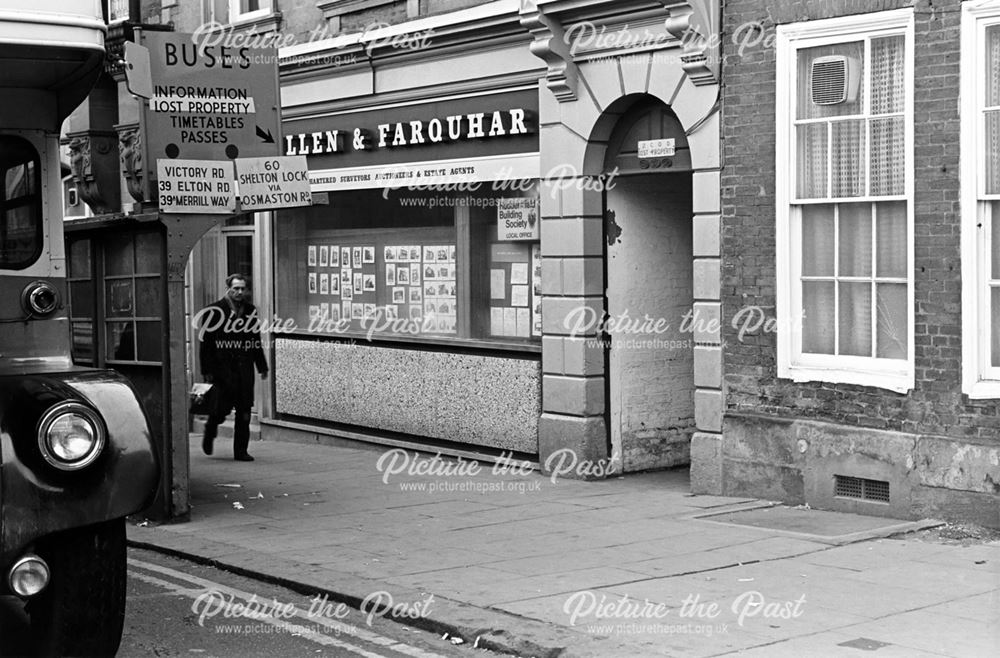
[[[775,61],[734,34],[776,24],[914,7],[915,388],[794,384],[777,378],[776,337],[738,340],[732,321],[747,305],[775,312]],[[961,394],[959,254],[959,0],[737,0],[726,4],[723,54],[722,299],[726,409],[829,420],[906,432],[996,438],[997,405]],[[740,32],[743,30],[743,32]]]

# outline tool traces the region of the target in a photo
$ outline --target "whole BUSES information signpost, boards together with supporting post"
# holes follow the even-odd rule
[[[188,256],[226,215],[310,205],[312,198],[305,157],[279,157],[275,49],[210,46],[176,32],[137,34],[139,45],[127,47],[128,88],[145,99],[140,119],[145,198],[158,201],[167,241],[164,315],[170,348],[162,377],[170,445],[163,468],[169,505],[182,515],[189,472]]]

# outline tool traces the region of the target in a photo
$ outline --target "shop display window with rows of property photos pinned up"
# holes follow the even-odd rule
[[[279,213],[275,300],[292,333],[537,347],[537,196],[331,193]]]

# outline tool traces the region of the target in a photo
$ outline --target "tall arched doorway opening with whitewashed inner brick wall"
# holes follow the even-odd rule
[[[605,175],[610,447],[626,472],[687,464],[695,429],[694,344],[683,326],[693,303],[691,167],[666,105],[641,101],[619,119]]]

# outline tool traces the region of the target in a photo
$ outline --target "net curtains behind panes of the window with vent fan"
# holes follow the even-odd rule
[[[905,54],[902,36],[871,39],[867,55],[864,41],[799,51],[799,199],[905,193]],[[812,62],[830,55],[846,57],[859,83],[853,99],[817,105]],[[802,205],[800,217],[802,350],[906,358],[906,202]]]

